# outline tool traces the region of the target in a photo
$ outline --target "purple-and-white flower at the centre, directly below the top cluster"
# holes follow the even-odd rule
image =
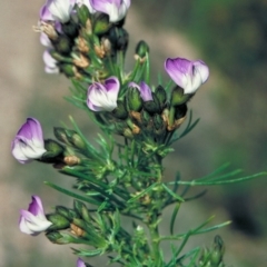
[[[88,88],[87,106],[93,111],[112,111],[117,107],[120,89],[116,77],[108,78],[105,83],[95,82]]]

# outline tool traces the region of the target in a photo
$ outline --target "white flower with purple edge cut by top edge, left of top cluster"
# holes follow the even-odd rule
[[[75,4],[76,0],[47,0],[40,10],[40,20],[66,23],[70,20]]]

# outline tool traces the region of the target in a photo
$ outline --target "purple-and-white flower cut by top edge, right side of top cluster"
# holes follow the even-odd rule
[[[109,16],[110,22],[120,21],[126,17],[130,0],[90,0],[91,7]]]

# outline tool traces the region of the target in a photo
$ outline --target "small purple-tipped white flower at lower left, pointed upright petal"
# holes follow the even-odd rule
[[[48,229],[52,222],[46,218],[41,199],[32,196],[28,210],[20,210],[19,228],[22,233],[37,236]]]

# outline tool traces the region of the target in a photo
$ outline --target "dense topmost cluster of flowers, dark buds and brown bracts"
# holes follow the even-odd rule
[[[46,72],[83,79],[97,68],[107,76],[107,56],[127,47],[128,33],[121,27],[129,7],[130,0],[47,0],[36,27],[47,47]]]

